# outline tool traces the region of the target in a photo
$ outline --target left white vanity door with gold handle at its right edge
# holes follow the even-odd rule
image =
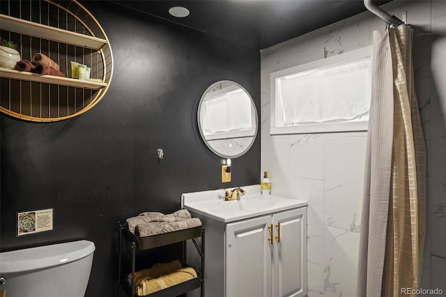
[[[271,216],[226,225],[227,297],[271,296]]]

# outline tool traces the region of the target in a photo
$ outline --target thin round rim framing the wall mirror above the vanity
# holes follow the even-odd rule
[[[201,107],[203,105],[203,101],[204,98],[206,97],[206,95],[208,94],[208,92],[213,89],[217,84],[222,84],[222,83],[231,83],[231,84],[235,84],[236,86],[238,86],[240,89],[242,89],[243,91],[245,91],[245,93],[247,94],[247,96],[249,97],[249,100],[251,100],[251,106],[254,109],[254,114],[255,114],[255,118],[256,118],[256,127],[255,127],[255,131],[254,131],[254,135],[252,136],[252,141],[249,143],[249,145],[243,149],[243,151],[241,153],[238,153],[237,155],[224,155],[224,153],[220,153],[219,151],[216,151],[215,148],[213,148],[213,146],[211,146],[208,143],[208,140],[206,140],[206,137],[204,135],[203,129],[201,128],[201,119],[200,119],[200,111],[201,111]],[[238,158],[241,155],[244,155],[247,151],[249,151],[249,148],[252,147],[252,145],[254,144],[256,137],[257,137],[257,133],[259,132],[259,113],[257,112],[257,108],[256,105],[254,103],[254,100],[252,100],[251,95],[248,93],[248,91],[241,86],[240,84],[233,82],[232,80],[219,80],[217,82],[214,82],[213,84],[211,84],[210,86],[208,86],[208,88],[206,89],[206,91],[203,92],[203,95],[201,95],[200,98],[200,102],[198,105],[198,109],[197,109],[197,123],[198,123],[198,128],[200,131],[200,135],[201,135],[201,139],[203,139],[203,142],[206,144],[206,146],[208,146],[208,148],[210,149],[210,151],[212,151],[213,153],[215,153],[215,155],[218,155],[222,158]]]

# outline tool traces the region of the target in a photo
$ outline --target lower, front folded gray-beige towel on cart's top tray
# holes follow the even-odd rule
[[[134,229],[134,235],[141,237],[153,236],[199,226],[201,226],[199,218],[190,218],[176,222],[146,222],[137,224]]]

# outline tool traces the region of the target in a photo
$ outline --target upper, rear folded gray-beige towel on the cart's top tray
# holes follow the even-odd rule
[[[140,213],[137,217],[128,218],[127,224],[128,229],[132,233],[136,234],[134,229],[138,224],[145,224],[149,222],[173,223],[190,218],[192,218],[192,215],[190,215],[190,212],[187,211],[187,209],[180,209],[179,211],[176,211],[175,213],[171,213],[169,215],[164,215],[164,213],[145,212]]]

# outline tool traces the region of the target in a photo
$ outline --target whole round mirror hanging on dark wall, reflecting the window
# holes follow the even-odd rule
[[[223,158],[246,153],[257,134],[257,111],[243,86],[229,80],[215,82],[201,96],[198,126],[208,148]]]

